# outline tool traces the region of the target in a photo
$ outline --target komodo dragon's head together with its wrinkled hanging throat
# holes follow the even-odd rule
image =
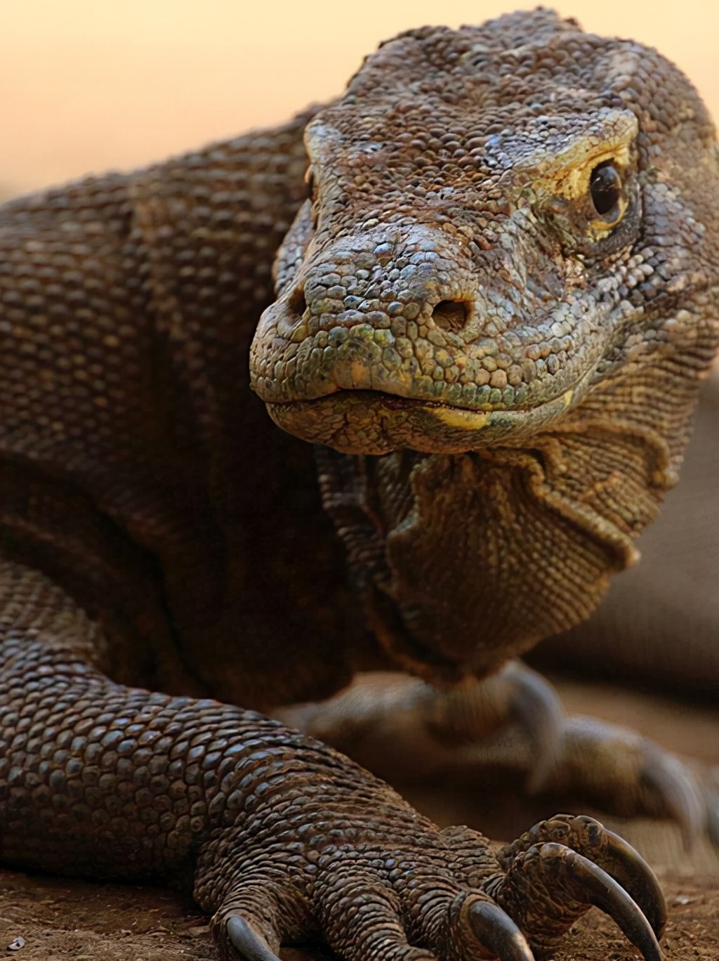
[[[356,550],[412,643],[485,670],[586,617],[674,481],[717,342],[710,119],[656,51],[535,11],[396,37],[305,142],[252,385],[360,456]]]

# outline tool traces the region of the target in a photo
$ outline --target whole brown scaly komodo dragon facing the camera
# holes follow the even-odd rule
[[[495,854],[266,713],[380,668],[546,727],[503,665],[677,478],[718,185],[676,68],[537,11],[7,205],[6,863],[193,885],[246,961],[527,961],[590,903],[658,959],[659,885],[596,821]],[[640,760],[617,791],[686,818],[691,776]]]

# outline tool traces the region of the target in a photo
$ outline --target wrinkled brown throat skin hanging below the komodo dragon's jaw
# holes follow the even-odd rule
[[[399,667],[439,684],[485,677],[585,620],[611,575],[635,562],[635,535],[676,482],[695,391],[687,382],[665,404],[658,430],[604,412],[632,390],[594,395],[526,447],[316,449],[350,577]]]

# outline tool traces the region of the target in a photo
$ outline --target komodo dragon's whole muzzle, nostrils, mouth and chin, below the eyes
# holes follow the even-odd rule
[[[515,224],[480,250],[459,231],[383,224],[305,241],[293,266],[298,234],[252,343],[253,389],[283,429],[349,453],[452,453],[538,430],[595,357],[577,348],[581,309],[537,303],[527,237]]]

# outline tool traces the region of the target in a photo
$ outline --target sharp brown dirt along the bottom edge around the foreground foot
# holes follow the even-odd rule
[[[661,874],[661,873],[660,873]],[[716,877],[662,875],[669,924],[666,961],[717,961]],[[0,951],[18,961],[215,961],[208,917],[157,888],[87,884],[0,872]],[[12,950],[13,939],[24,946]],[[329,961],[322,950],[284,949],[283,961]],[[555,961],[635,961],[618,928],[592,908],[572,928]]]

